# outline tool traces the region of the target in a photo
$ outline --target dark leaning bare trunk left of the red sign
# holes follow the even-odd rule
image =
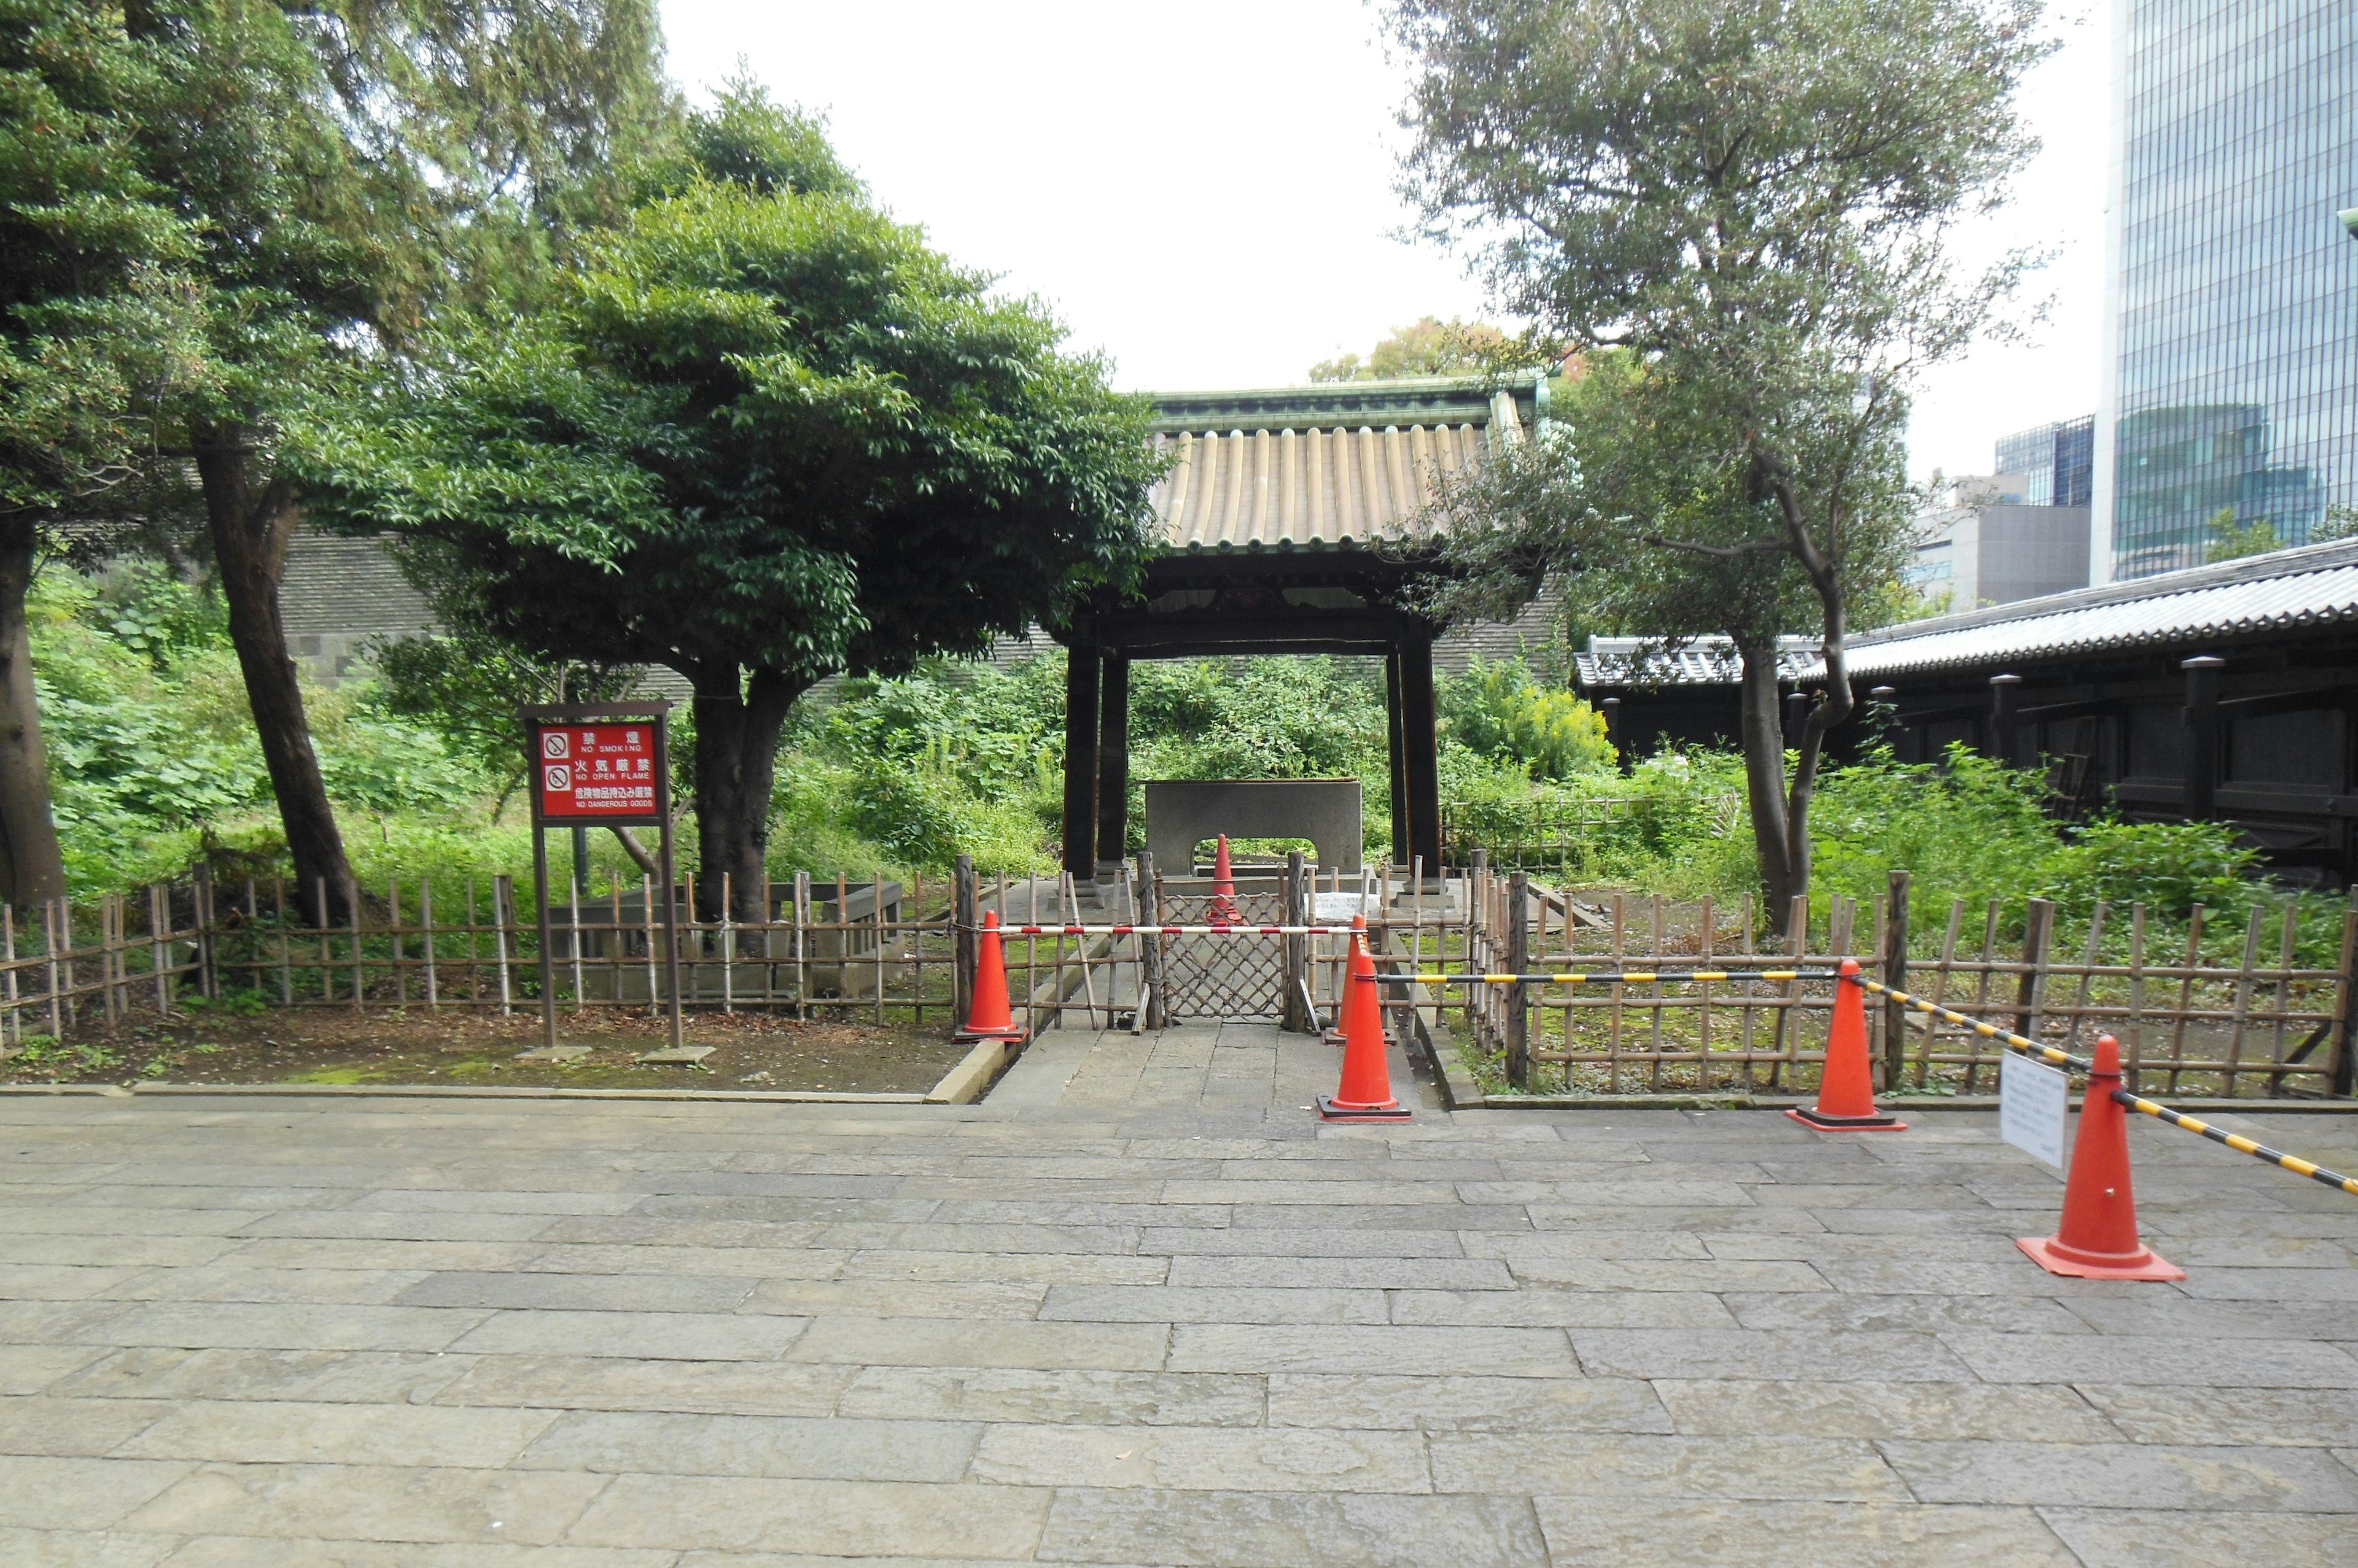
[[[222,597],[229,601],[229,641],[245,672],[245,700],[255,712],[255,736],[262,740],[262,762],[269,766],[288,856],[295,861],[295,884],[302,891],[297,908],[316,913],[316,889],[325,884],[328,920],[342,924],[351,917],[351,863],[335,830],[335,809],[328,806],[328,785],[311,750],[311,722],[302,707],[302,681],[278,613],[288,540],[302,521],[295,486],[271,479],[255,495],[252,431],[243,424],[215,424],[193,434],[205,523],[222,571]]]

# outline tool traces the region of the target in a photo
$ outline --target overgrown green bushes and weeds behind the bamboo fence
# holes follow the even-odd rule
[[[52,566],[31,604],[75,891],[174,877],[200,856],[231,879],[290,870],[219,599],[160,566],[127,564],[97,578]],[[531,865],[523,806],[505,799],[514,773],[498,700],[488,691],[462,700],[446,674],[432,648],[408,648],[363,679],[307,691],[328,790],[356,823],[363,887]],[[573,672],[592,677],[611,672]],[[1377,663],[1139,663],[1129,681],[1132,846],[1144,846],[1146,778],[1295,776],[1358,778],[1368,851],[1389,854]],[[1495,851],[1570,842],[1559,875],[1592,887],[1721,905],[1759,896],[1738,755],[1672,750],[1622,776],[1603,722],[1526,660],[1443,677],[1438,707],[1457,842]],[[941,872],[971,854],[986,870],[1049,870],[1061,766],[1061,653],[1012,670],[931,660],[896,679],[839,681],[797,703],[788,724],[769,868]],[[1813,825],[1820,920],[1830,898],[1875,898],[1905,868],[1919,950],[1938,943],[1952,898],[1974,910],[1976,934],[1983,903],[1997,898],[2011,936],[2028,898],[2044,896],[2066,931],[2082,934],[2075,941],[2099,898],[2115,905],[2115,943],[2127,941],[2134,903],[2150,931],[2179,934],[2202,903],[2217,941],[2240,943],[2252,908],[2292,901],[2301,962],[2327,967],[2339,955],[2339,901],[2261,877],[2233,828],[2110,818],[2070,828],[2047,813],[2040,773],[1964,747],[1938,766],[1870,752],[1830,769]],[[693,830],[681,825],[691,846]],[[564,835],[549,851],[568,865]],[[639,877],[606,835],[592,837],[592,865],[601,884]]]

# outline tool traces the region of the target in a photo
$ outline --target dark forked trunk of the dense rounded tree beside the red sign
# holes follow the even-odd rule
[[[740,679],[736,665],[684,670],[696,686],[696,917],[719,920],[722,877],[729,915],[769,920],[769,797],[778,780],[778,736],[809,681],[778,670]]]

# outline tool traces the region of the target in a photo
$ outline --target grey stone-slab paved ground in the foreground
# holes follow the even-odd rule
[[[5,1099],[0,1563],[2358,1563],[2349,1198],[2139,1125],[2193,1278],[2066,1283],[1988,1115],[1320,1129],[1332,1070]]]

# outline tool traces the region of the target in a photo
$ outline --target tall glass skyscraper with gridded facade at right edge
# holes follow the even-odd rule
[[[2358,0],[2117,0],[2092,568],[2358,502]]]

